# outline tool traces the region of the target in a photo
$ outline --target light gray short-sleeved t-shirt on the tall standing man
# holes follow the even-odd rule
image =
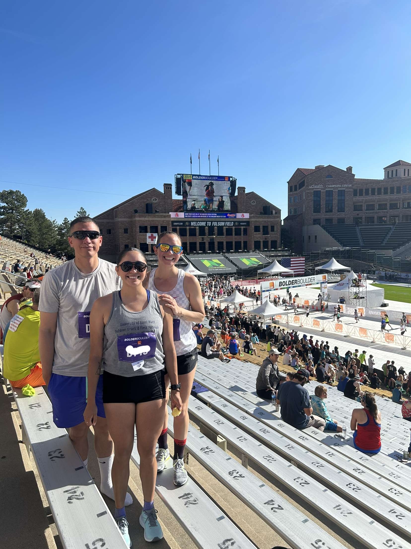
[[[90,311],[94,301],[121,288],[115,264],[99,259],[95,271],[84,275],[74,260],[43,278],[39,311],[56,312],[53,373],[87,376],[90,353]]]

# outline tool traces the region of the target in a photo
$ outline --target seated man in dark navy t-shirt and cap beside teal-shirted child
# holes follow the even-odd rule
[[[310,395],[304,388],[309,380],[309,373],[298,370],[291,381],[282,383],[277,391],[277,404],[281,406],[281,418],[295,429],[314,427],[324,430],[326,421],[312,415]]]

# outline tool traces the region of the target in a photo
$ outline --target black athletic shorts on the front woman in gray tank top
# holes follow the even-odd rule
[[[103,404],[113,402],[150,402],[165,399],[164,370],[145,376],[116,376],[103,373]]]

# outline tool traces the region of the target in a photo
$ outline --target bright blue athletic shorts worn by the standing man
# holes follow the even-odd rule
[[[57,427],[68,429],[83,423],[83,413],[87,405],[87,377],[60,376],[52,373],[48,393],[53,405],[53,421]],[[102,375],[95,395],[97,415],[106,417],[102,402]]]

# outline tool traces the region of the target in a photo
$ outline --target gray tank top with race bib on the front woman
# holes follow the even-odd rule
[[[113,292],[113,305],[104,328],[102,369],[116,376],[145,376],[164,368],[163,318],[156,292],[139,312],[128,311]]]

